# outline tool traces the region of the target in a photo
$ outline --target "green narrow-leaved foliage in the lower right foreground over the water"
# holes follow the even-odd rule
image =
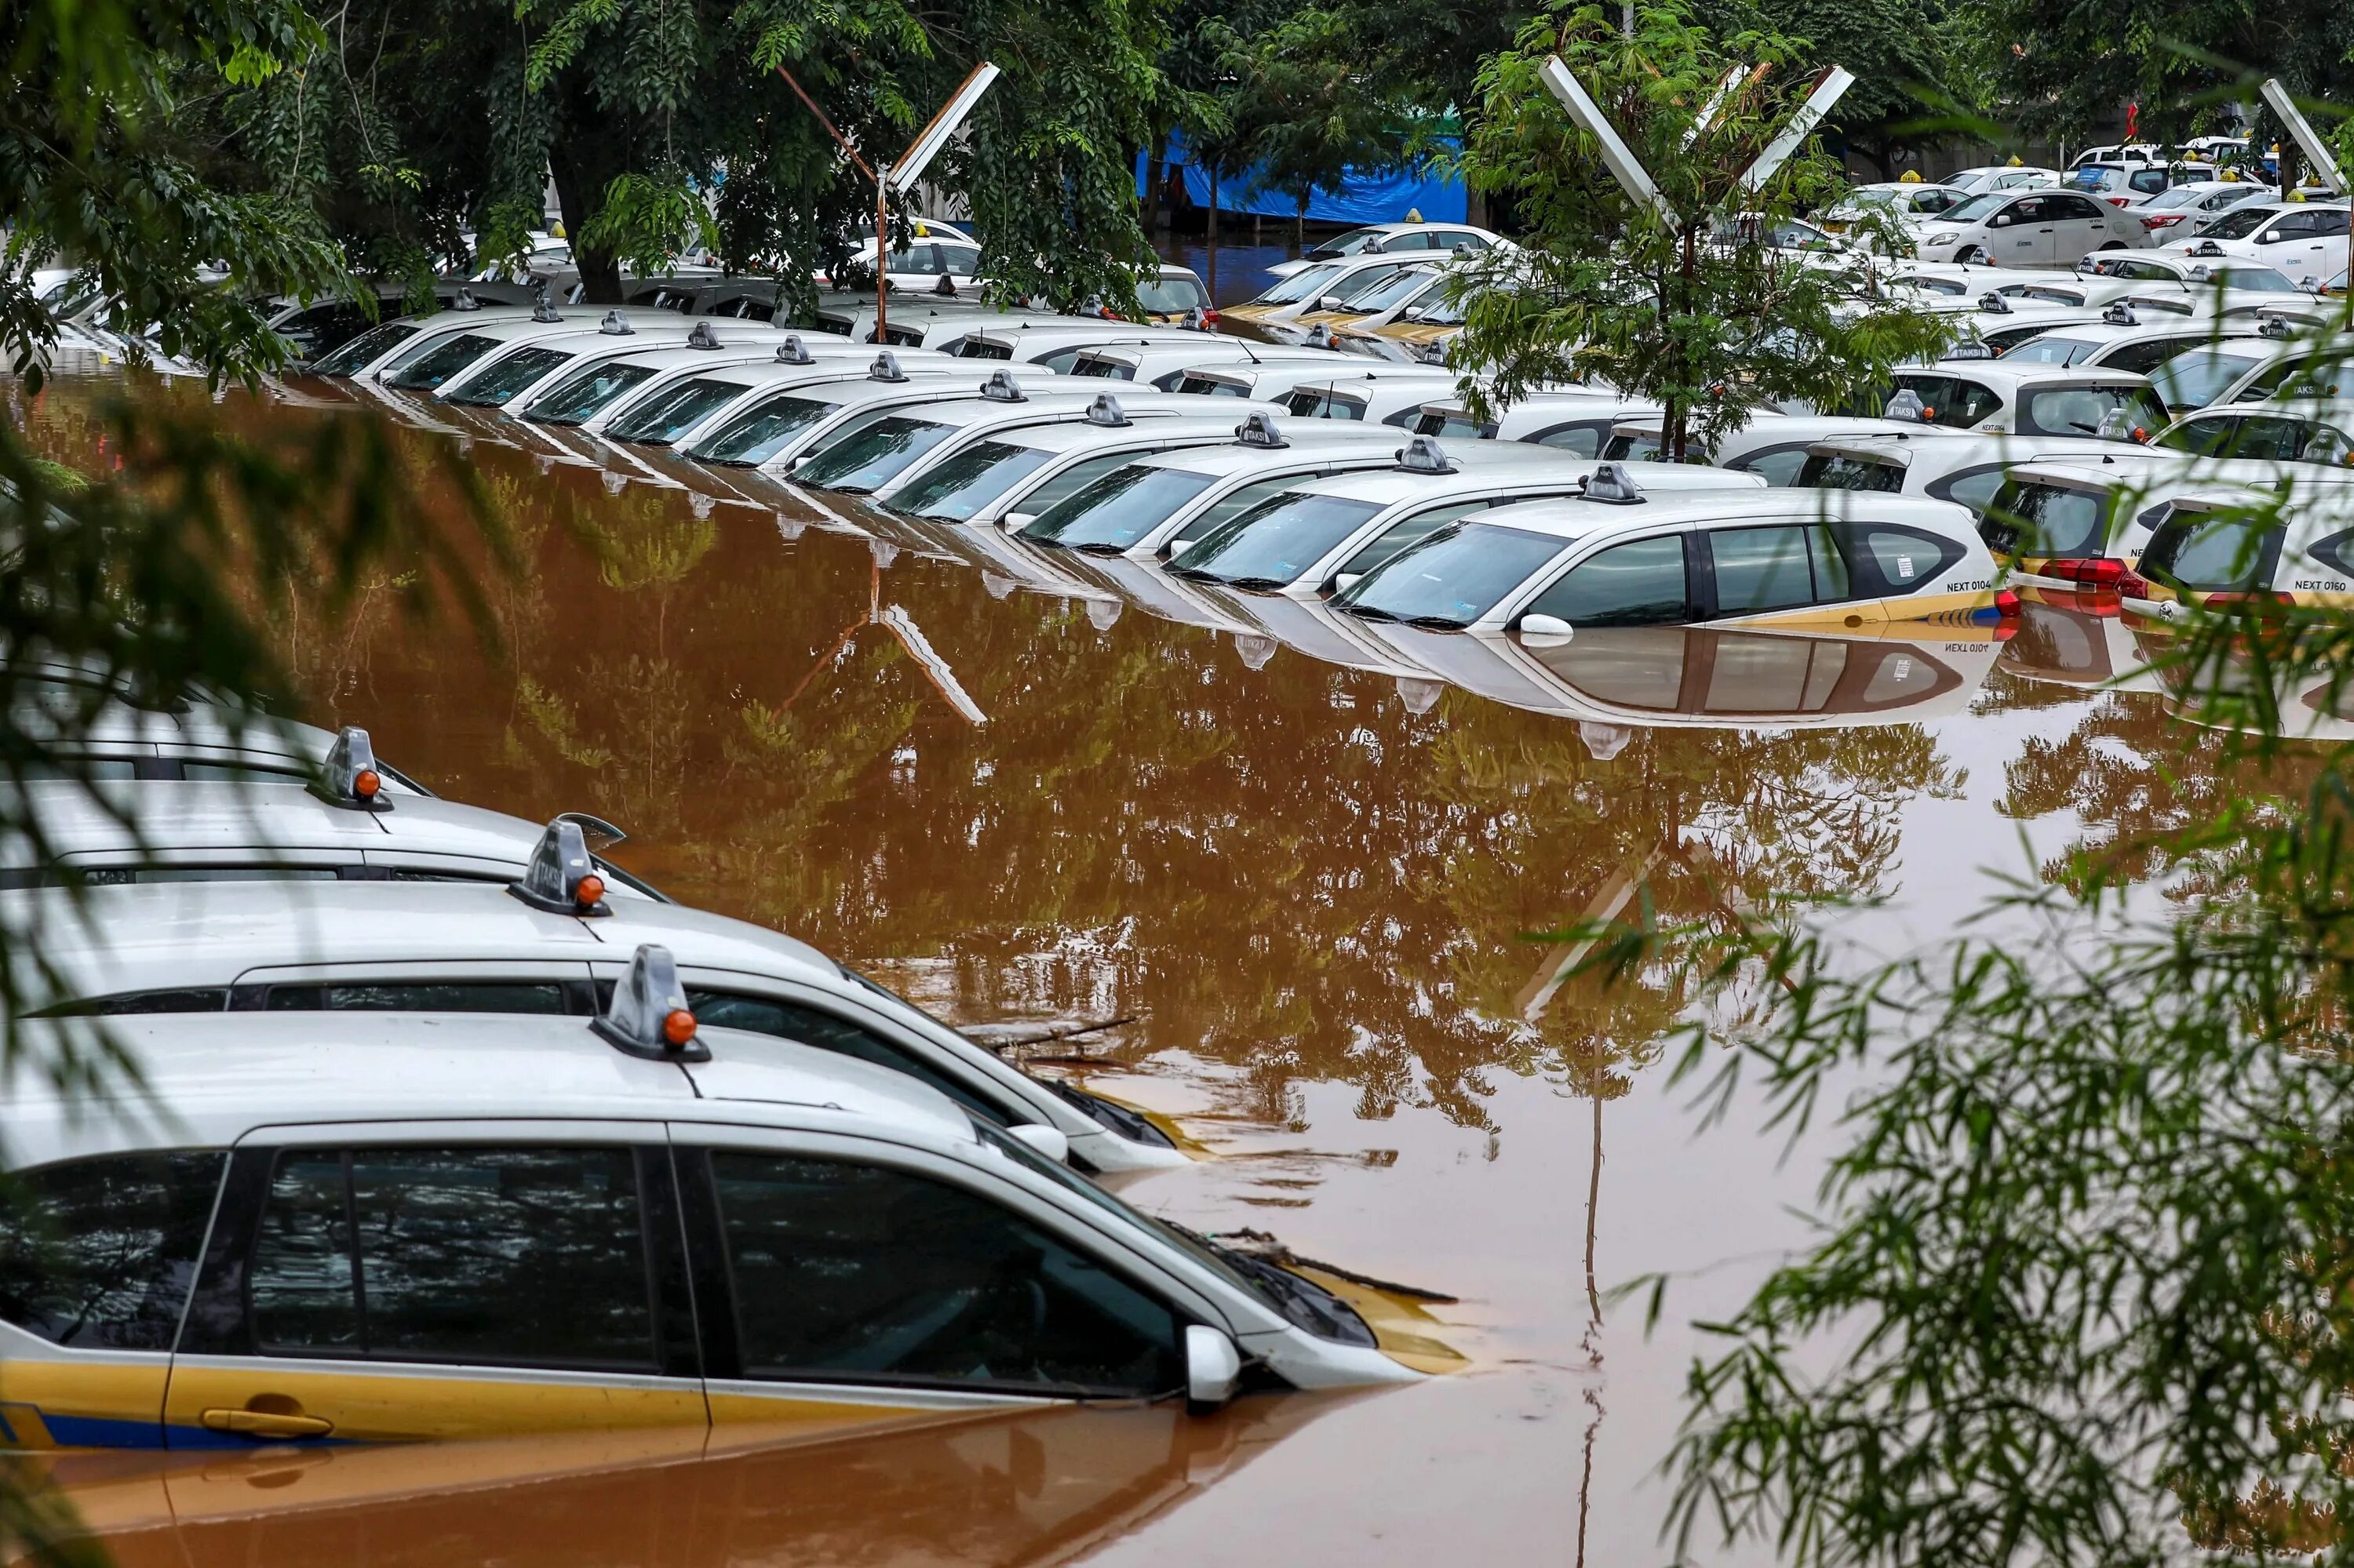
[[[1761,935],[1725,961],[1791,996],[1716,1090],[1761,1074],[1791,1130],[1836,1107],[1843,1149],[1813,1250],[1693,1370],[1685,1549],[2347,1549],[2354,777],[2295,737],[2345,711],[2354,619],[2203,614],[2166,664],[2241,765],[2147,845],[2187,897],[2130,892],[2149,857],[2104,845],[1933,956]]]

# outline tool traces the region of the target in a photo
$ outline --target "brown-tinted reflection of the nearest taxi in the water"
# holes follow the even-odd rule
[[[1045,1408],[923,1429],[560,1434],[504,1443],[54,1453],[35,1462],[118,1568],[410,1568],[464,1542],[476,1563],[680,1568],[819,1561],[1064,1563],[1217,1486],[1335,1396]],[[450,1554],[440,1561],[459,1561]]]

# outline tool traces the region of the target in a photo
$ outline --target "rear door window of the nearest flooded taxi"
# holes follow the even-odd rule
[[[261,1351],[659,1368],[629,1149],[287,1149],[250,1278]]]

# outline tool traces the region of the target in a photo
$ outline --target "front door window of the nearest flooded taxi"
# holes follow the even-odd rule
[[[1165,1302],[991,1198],[885,1165],[709,1158],[744,1377],[1184,1387]]]

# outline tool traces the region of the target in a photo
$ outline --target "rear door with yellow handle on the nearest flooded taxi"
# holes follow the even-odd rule
[[[172,1448],[704,1424],[661,1123],[242,1137],[162,1410]]]

